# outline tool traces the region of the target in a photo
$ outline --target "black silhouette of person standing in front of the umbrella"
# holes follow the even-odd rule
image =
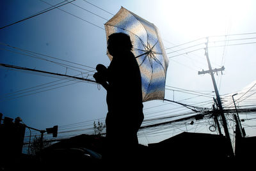
[[[108,68],[98,64],[93,75],[107,90],[106,139],[108,158],[115,160],[113,163],[136,158],[137,132],[144,118],[140,68],[131,48],[127,34],[111,34],[108,52],[113,59]]]

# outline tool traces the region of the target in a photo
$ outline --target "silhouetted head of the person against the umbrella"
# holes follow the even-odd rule
[[[111,56],[131,51],[131,49],[132,43],[129,35],[125,33],[113,33],[108,36],[108,52]]]

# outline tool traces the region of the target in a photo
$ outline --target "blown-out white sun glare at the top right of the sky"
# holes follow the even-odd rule
[[[246,6],[250,3],[232,0],[182,0],[164,1],[163,4],[161,13],[168,16],[169,27],[175,27],[179,33],[189,34],[193,38],[200,38],[228,33],[233,20],[237,22],[246,15]]]

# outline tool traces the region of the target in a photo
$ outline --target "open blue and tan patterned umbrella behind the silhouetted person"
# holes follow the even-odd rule
[[[122,7],[105,24],[106,36],[113,33],[128,34],[132,53],[140,66],[143,101],[164,100],[164,87],[168,58],[154,24]],[[112,56],[108,53],[111,60]]]

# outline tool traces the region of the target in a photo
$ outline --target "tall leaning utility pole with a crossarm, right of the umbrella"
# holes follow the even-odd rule
[[[223,128],[224,128],[225,136],[226,136],[227,141],[228,141],[230,156],[234,157],[234,151],[233,151],[233,148],[232,148],[232,142],[231,142],[229,131],[228,131],[227,120],[226,120],[226,117],[225,117],[224,112],[223,112],[222,103],[221,103],[221,99],[220,99],[220,94],[219,94],[218,87],[216,85],[216,81],[215,81],[215,78],[214,78],[214,73],[213,73],[214,70],[212,70],[212,66],[211,66],[211,63],[210,63],[210,60],[209,60],[208,42],[209,42],[209,38],[207,38],[207,43],[205,43],[206,44],[205,56],[206,56],[207,63],[208,63],[208,66],[209,66],[209,71],[203,71],[202,73],[198,72],[198,74],[203,74],[203,73],[210,73],[211,74],[212,83],[213,83],[214,91],[215,91],[215,94],[216,94],[216,100],[217,100],[217,103],[218,103],[217,105],[218,105],[218,108],[220,110],[220,116],[221,116],[221,120],[222,120],[222,123],[223,123]],[[225,68],[222,67],[220,69],[216,69],[216,71],[217,70],[222,71],[224,69]]]

